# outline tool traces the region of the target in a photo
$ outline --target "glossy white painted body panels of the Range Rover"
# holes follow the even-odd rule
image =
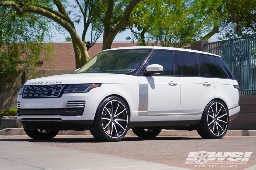
[[[116,49],[132,48],[154,48],[208,54],[168,47]],[[113,95],[121,96],[127,102],[131,122],[200,120],[206,105],[215,98],[226,103],[229,116],[238,113],[240,109],[238,89],[233,86],[238,85],[238,83],[232,79],[94,73],[43,77],[29,80],[24,86],[87,83],[100,83],[101,86],[86,93],[63,94],[58,98],[22,98],[22,95],[18,95],[17,99],[20,103],[20,109],[58,109],[67,101],[85,101],[82,116],[26,115],[17,116],[17,119],[94,120],[99,104],[106,97]]]

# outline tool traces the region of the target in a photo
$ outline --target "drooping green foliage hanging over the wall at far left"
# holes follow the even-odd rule
[[[53,23],[37,14],[17,16],[10,8],[0,8],[0,16],[0,83],[16,78],[25,65],[26,71],[36,73],[42,53],[43,60],[51,60],[53,45],[39,39],[51,39]]]

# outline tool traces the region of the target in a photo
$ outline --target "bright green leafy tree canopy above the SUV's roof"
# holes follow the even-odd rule
[[[168,47],[182,47],[199,40],[210,31],[219,1],[141,1],[132,12],[128,27],[133,36],[127,39],[137,39],[139,45],[145,45],[146,39],[158,39],[161,46]]]

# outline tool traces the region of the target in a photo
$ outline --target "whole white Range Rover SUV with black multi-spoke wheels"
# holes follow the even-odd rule
[[[142,138],[162,129],[222,138],[239,113],[239,87],[218,55],[169,47],[104,50],[75,74],[28,80],[17,120],[33,139],[90,130],[119,141],[131,128]]]

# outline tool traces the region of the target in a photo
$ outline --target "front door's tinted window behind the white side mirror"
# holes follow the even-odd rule
[[[156,75],[174,75],[174,55],[171,51],[157,51],[148,64],[163,66],[163,73]]]

